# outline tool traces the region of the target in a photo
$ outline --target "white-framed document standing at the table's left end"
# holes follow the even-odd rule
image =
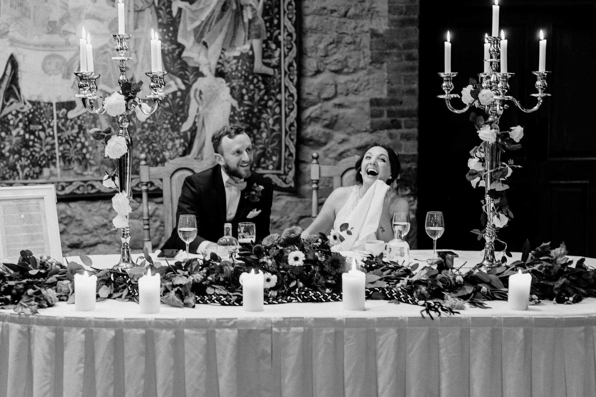
[[[0,187],[0,260],[23,249],[62,260],[54,185]]]

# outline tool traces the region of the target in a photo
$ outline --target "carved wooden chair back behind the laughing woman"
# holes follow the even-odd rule
[[[350,186],[356,184],[356,161],[359,155],[344,158],[336,165],[320,165],[319,154],[312,154],[311,161],[311,181],[312,181],[312,217],[319,213],[319,180],[321,178],[333,177],[333,189],[340,186]]]

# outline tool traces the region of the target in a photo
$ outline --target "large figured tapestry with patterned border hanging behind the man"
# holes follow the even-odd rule
[[[101,179],[114,168],[89,136],[116,128],[86,112],[73,71],[82,27],[94,48],[98,95],[119,90],[114,0],[0,0],[0,180]],[[247,126],[256,171],[294,186],[296,14],[294,0],[125,0],[129,79],[148,94],[150,31],[162,40],[167,98],[146,121],[131,117],[134,168],[213,157],[210,137]]]

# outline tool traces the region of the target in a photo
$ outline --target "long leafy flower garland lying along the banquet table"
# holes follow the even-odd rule
[[[90,271],[97,276],[98,301],[116,299],[138,302],[138,279],[150,268],[160,273],[162,302],[175,307],[196,304],[241,305],[240,274],[252,268],[265,273],[265,303],[341,301],[342,273],[346,258],[331,250],[328,236],[300,237],[302,229],[291,227],[282,235],[269,235],[252,251],[237,252],[231,260],[218,255],[170,263],[154,262],[145,251],[136,267],[120,270]],[[531,301],[547,299],[571,304],[584,297],[596,297],[596,270],[587,268],[582,258],[575,267],[567,257],[564,244],[551,249],[548,243],[530,252],[526,241],[522,260],[488,272],[473,268],[454,268],[449,257],[436,267],[419,264],[400,265],[383,261],[383,255],[365,258],[367,298],[389,299],[399,304],[419,305],[421,313],[453,314],[465,304],[486,308],[485,301],[507,299],[508,276],[518,270],[532,274]],[[40,260],[31,251],[21,251],[17,264],[0,266],[0,308],[17,313],[35,314],[39,308],[58,301],[74,303],[74,274],[85,268],[76,262],[64,265],[49,257]],[[92,261],[79,255],[85,265]]]

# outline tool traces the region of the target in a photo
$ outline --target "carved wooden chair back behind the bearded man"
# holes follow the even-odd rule
[[[207,170],[215,165],[215,161],[198,161],[189,157],[179,157],[166,162],[163,167],[149,167],[147,155],[141,154],[139,177],[141,180],[143,210],[143,241],[149,252],[151,245],[151,228],[149,226],[149,202],[147,198],[148,183],[151,179],[161,179],[163,185],[164,232],[169,233],[176,227],[176,208],[182,192],[184,179],[194,173]]]

